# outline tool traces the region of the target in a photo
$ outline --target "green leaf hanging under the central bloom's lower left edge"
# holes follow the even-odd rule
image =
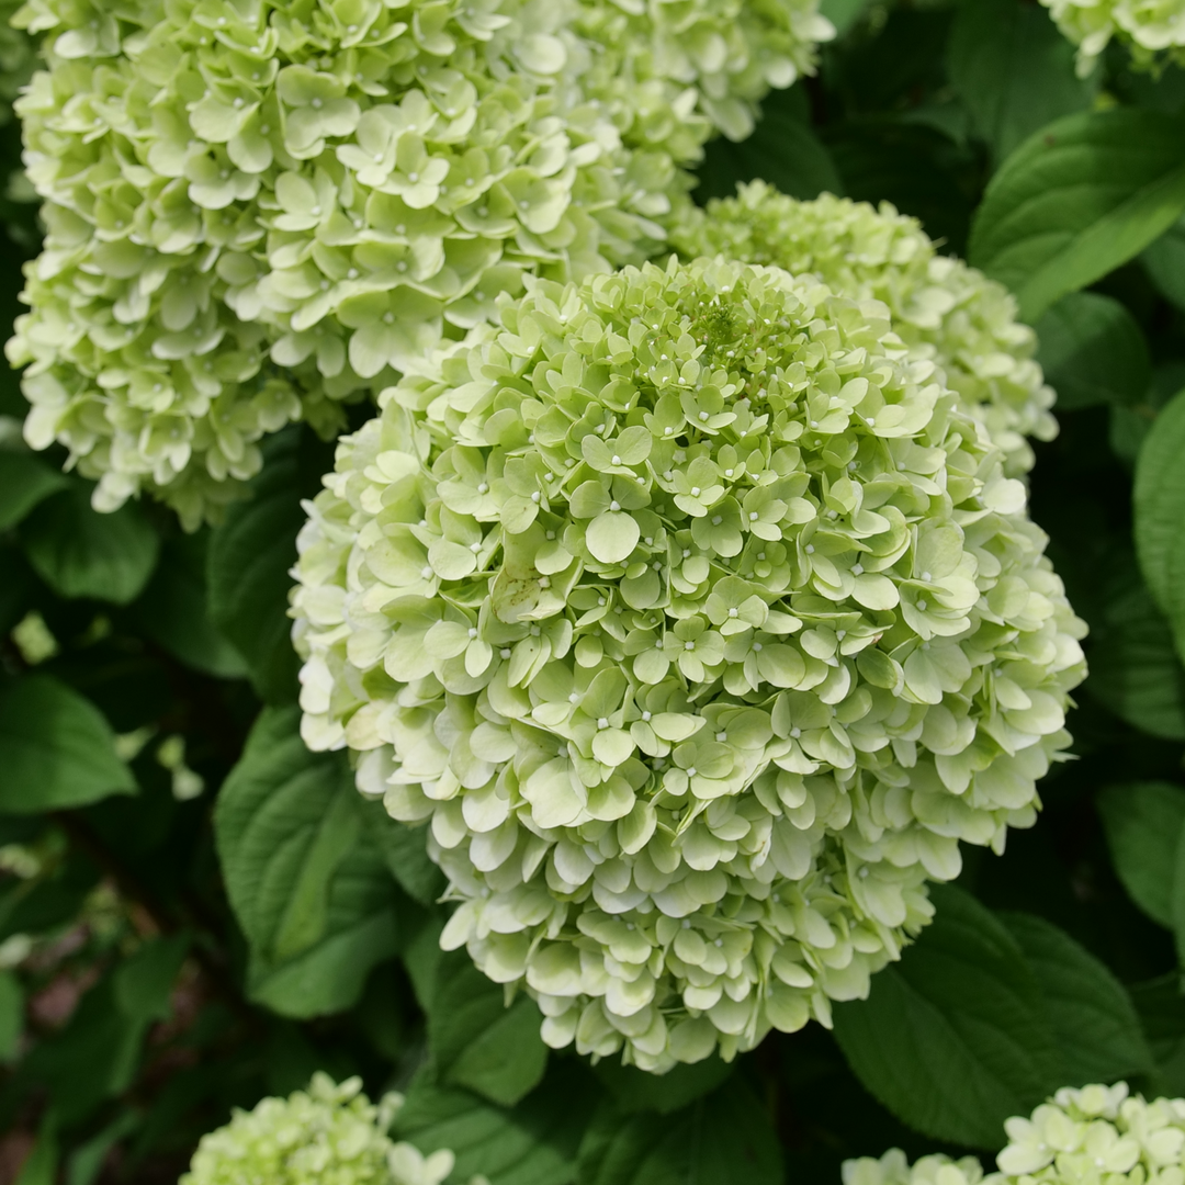
[[[465,1087],[495,1103],[517,1103],[547,1065],[543,1018],[525,995],[506,1006],[505,992],[463,952],[437,963],[428,1006],[428,1048],[442,1085]]]

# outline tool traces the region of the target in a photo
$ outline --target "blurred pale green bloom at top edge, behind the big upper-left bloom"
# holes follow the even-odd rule
[[[587,89],[627,143],[700,159],[715,132],[743,140],[771,89],[813,73],[835,28],[819,0],[581,0],[595,46]]]

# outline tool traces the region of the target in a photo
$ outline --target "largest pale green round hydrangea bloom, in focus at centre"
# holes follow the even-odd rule
[[[385,391],[299,539],[303,735],[544,1037],[636,1064],[863,995],[1068,742],[1025,491],[878,302],[723,260],[531,280]]]

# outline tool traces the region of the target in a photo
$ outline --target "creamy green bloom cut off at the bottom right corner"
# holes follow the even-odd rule
[[[844,1165],[844,1185],[1183,1185],[1185,1098],[1147,1102],[1127,1083],[1064,1087],[1031,1119],[1004,1125],[999,1172],[984,1177],[974,1157],[923,1157],[912,1167],[893,1148],[879,1160]]]

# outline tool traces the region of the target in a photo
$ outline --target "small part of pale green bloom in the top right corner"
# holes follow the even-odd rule
[[[1185,5],[1180,0],[1040,0],[1062,34],[1078,47],[1078,73],[1095,68],[1112,38],[1144,69],[1168,58],[1185,63]]]

